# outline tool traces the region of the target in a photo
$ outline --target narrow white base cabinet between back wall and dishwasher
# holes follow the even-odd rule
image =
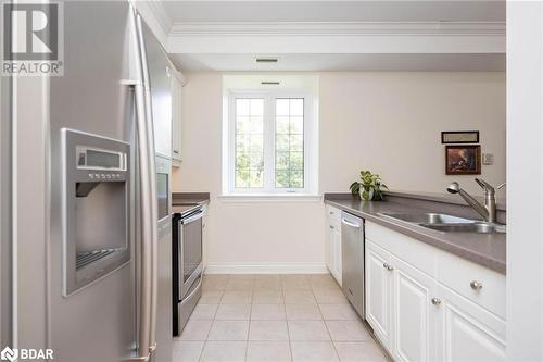
[[[327,207],[326,265],[341,286],[341,210]]]

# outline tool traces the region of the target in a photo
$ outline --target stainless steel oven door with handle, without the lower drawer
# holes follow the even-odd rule
[[[202,216],[198,210],[179,222],[179,297],[182,300],[202,273]]]

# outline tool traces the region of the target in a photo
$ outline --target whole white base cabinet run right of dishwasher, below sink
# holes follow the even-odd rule
[[[394,360],[505,360],[504,275],[367,221],[366,236],[366,320]]]

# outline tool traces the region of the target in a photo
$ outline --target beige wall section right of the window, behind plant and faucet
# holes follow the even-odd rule
[[[481,177],[505,182],[503,73],[325,73],[320,76],[320,189],[344,191],[361,168],[395,190],[445,192],[442,130],[480,130],[494,164]]]

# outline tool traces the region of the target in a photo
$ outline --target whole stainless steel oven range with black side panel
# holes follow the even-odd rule
[[[174,208],[174,335],[180,335],[201,296],[202,217],[200,205]]]

